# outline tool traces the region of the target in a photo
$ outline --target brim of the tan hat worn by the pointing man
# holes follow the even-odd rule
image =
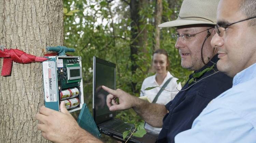
[[[177,27],[177,26],[195,25],[195,24],[216,25],[216,23],[213,23],[213,22],[177,19],[177,20],[162,23],[162,24],[158,25],[158,27]]]

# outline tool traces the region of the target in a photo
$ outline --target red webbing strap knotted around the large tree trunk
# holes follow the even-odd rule
[[[1,50],[2,49],[2,50]],[[12,61],[21,64],[28,64],[32,62],[43,62],[48,60],[44,57],[36,57],[31,54],[27,54],[19,49],[0,49],[0,58],[3,59],[3,66],[1,76],[9,76],[12,71]]]

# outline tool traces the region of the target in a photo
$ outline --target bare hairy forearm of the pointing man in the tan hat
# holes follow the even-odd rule
[[[162,119],[167,114],[164,105],[150,103],[138,98],[132,108],[151,126],[162,127]]]

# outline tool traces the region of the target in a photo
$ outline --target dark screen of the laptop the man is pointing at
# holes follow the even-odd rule
[[[93,116],[96,124],[110,120],[115,116],[106,105],[108,92],[102,89],[102,85],[115,90],[114,63],[94,57],[93,66]]]

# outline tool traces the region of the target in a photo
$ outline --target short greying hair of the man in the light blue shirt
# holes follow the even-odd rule
[[[247,18],[256,16],[256,0],[240,0],[239,8]],[[248,26],[254,25],[256,25],[256,18],[250,19],[248,22]]]

